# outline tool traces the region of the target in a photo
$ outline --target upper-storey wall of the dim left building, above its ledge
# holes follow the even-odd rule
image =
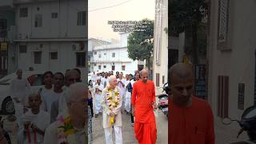
[[[20,18],[20,8],[28,8],[28,17]],[[85,38],[86,26],[78,26],[78,11],[86,11],[82,0],[19,4],[16,8],[18,38]],[[58,18],[52,18],[58,13]],[[42,27],[35,27],[35,15],[42,14]]]

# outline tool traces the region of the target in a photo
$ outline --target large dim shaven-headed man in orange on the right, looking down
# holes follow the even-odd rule
[[[177,63],[168,72],[169,144],[214,144],[214,117],[210,105],[196,98],[193,68]]]

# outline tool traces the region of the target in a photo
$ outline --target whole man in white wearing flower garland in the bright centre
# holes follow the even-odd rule
[[[122,97],[117,86],[117,78],[111,75],[109,85],[102,90],[103,128],[105,131],[106,144],[113,144],[112,130],[114,127],[115,143],[122,144]]]

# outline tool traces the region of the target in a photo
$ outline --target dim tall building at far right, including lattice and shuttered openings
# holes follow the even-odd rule
[[[216,116],[240,119],[256,104],[256,3],[211,0],[210,6],[209,102]]]

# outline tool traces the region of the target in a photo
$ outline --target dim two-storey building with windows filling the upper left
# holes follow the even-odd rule
[[[16,47],[22,70],[86,71],[86,2],[84,0],[15,0]]]

